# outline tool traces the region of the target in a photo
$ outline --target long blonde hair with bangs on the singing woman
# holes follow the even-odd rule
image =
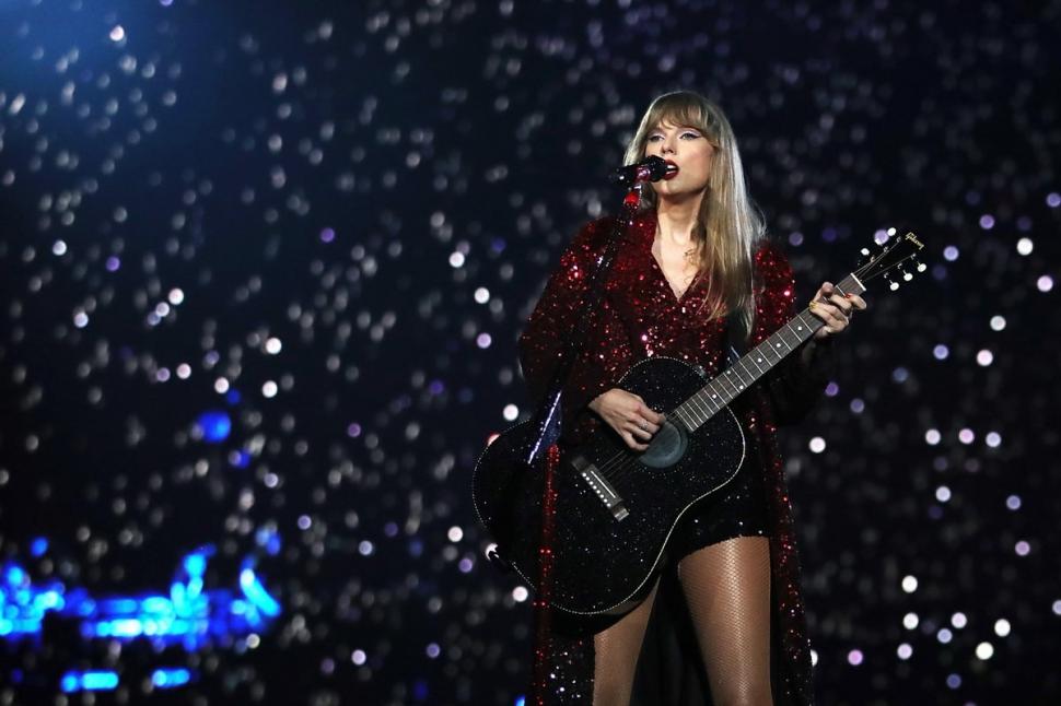
[[[711,175],[692,228],[697,249],[696,278],[708,283],[700,310],[708,307],[709,319],[741,311],[747,334],[751,331],[755,308],[751,258],[766,228],[762,216],[748,198],[733,128],[722,108],[702,95],[690,91],[666,93],[653,101],[641,118],[637,133],[627,145],[626,164],[644,158],[649,136],[661,122],[696,128],[715,149]],[[643,195],[645,208],[655,209],[655,191],[645,189]]]

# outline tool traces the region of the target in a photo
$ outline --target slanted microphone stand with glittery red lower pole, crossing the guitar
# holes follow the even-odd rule
[[[560,449],[556,445],[560,438],[561,399],[563,386],[576,357],[582,353],[588,334],[590,322],[596,314],[597,304],[604,294],[604,282],[611,270],[611,262],[619,250],[619,240],[633,223],[641,203],[643,180],[638,180],[622,199],[619,216],[611,227],[611,235],[597,267],[590,275],[586,291],[579,305],[582,314],[574,328],[574,336],[568,339],[563,356],[549,383],[548,392],[534,414],[535,435],[527,450],[525,461],[532,466],[545,449],[546,462],[541,492],[541,530],[538,542],[538,576],[535,589],[534,609],[534,660],[532,666],[530,699],[535,706],[548,706],[546,694],[549,678],[549,647],[551,644],[552,613],[552,536],[556,517],[555,475],[560,464]]]

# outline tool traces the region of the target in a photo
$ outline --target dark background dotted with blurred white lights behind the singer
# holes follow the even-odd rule
[[[166,694],[125,679],[143,643],[0,642],[0,696],[94,667],[103,702],[513,704],[529,602],[470,472],[528,412],[515,341],[562,246],[687,87],[804,298],[885,228],[928,245],[783,432],[818,698],[1057,703],[1059,12],[0,0],[2,558],[136,593],[212,543],[235,586],[276,531],[283,604],[257,647],[167,655],[197,680]]]

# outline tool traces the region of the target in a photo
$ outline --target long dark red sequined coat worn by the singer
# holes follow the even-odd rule
[[[614,220],[601,219],[587,224],[567,248],[560,264],[546,286],[537,307],[520,339],[523,374],[533,399],[545,395],[567,338],[576,320],[576,308],[598,256],[607,246]],[[611,272],[605,284],[605,296],[598,306],[582,355],[573,365],[563,392],[563,433],[566,442],[576,442],[595,424],[603,424],[586,404],[597,395],[615,387],[616,381],[638,361],[652,355],[666,355],[704,368],[709,377],[719,373],[726,346],[725,318],[704,320],[697,305],[703,298],[704,284],[693,283],[680,298],[676,297],[662,269],[652,255],[656,217],[642,213],[622,236]],[[756,345],[795,315],[795,286],[792,269],[784,255],[763,243],[755,254],[755,319],[750,345]],[[826,339],[827,341],[829,339]],[[791,355],[758,386],[735,403],[759,449],[770,514],[774,647],[774,702],[809,704],[811,658],[800,593],[800,569],[792,511],[781,458],[777,451],[777,424],[798,421],[820,395],[825,383],[827,346],[818,345],[818,355],[809,369],[800,364],[800,352]],[[739,407],[739,409],[737,409]],[[677,593],[680,596],[680,593]],[[657,603],[660,601],[657,600]],[[656,613],[653,613],[653,622]],[[652,626],[645,645],[652,645]],[[588,703],[593,682],[593,640],[588,632],[579,636],[558,635],[553,640],[552,696],[556,703]],[[648,649],[648,648],[646,648]],[[699,662],[692,656],[685,656]],[[675,681],[671,657],[648,658],[642,662],[663,664],[657,682]],[[658,701],[708,703],[702,689],[680,689],[658,683],[643,686],[639,670],[639,691],[643,703]],[[657,670],[658,671],[658,670]],[[666,673],[664,673],[666,672]],[[649,678],[651,680],[651,676]],[[681,678],[678,678],[681,679]],[[687,680],[688,681],[688,680]],[[684,692],[684,693],[683,693]],[[636,697],[636,702],[637,702]]]

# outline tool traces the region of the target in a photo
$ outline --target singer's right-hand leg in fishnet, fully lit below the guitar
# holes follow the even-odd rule
[[[772,706],[770,541],[737,537],[678,563],[716,706]]]

